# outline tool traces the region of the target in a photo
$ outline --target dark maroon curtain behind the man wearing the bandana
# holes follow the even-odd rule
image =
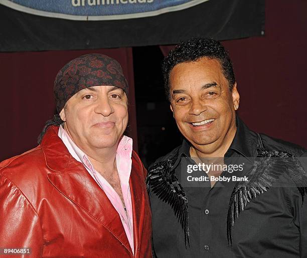
[[[69,60],[85,53],[103,53],[122,65],[129,83],[128,133],[137,150],[131,48],[0,53],[0,160],[37,145],[37,136],[55,111],[53,82],[58,70]]]

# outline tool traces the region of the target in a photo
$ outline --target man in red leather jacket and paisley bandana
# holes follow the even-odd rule
[[[59,71],[40,144],[0,163],[0,256],[151,257],[146,170],[123,135],[127,90],[106,55]]]

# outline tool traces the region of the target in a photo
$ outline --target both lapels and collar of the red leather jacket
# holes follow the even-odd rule
[[[100,222],[133,256],[117,211],[82,163],[69,153],[58,136],[58,130],[58,126],[49,126],[41,142],[46,165],[52,170],[48,173],[48,179],[63,195]],[[139,183],[144,179],[139,178],[142,172],[137,171],[137,169],[140,169],[136,164],[137,162],[132,155],[129,185],[135,251],[140,244],[139,238],[142,232],[145,203],[145,186]]]

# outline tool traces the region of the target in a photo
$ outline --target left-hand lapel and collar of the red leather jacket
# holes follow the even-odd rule
[[[82,163],[70,155],[57,131],[57,126],[50,126],[41,143],[46,164],[53,170],[48,173],[48,179],[62,194],[100,222],[132,255],[118,212]]]

